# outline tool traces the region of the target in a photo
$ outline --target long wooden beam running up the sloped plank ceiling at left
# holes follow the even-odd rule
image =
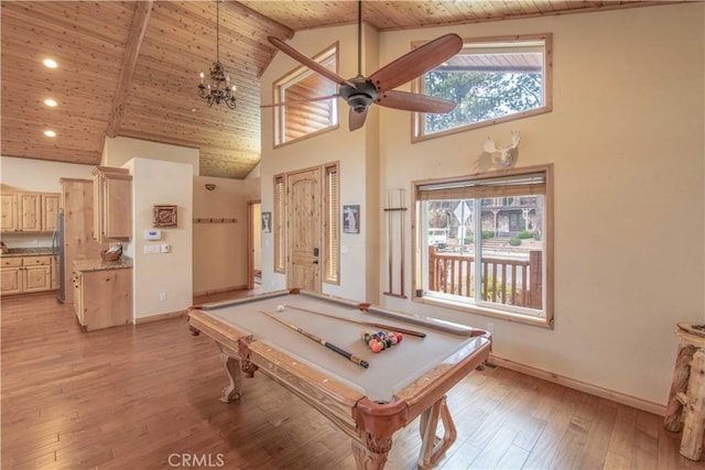
[[[122,55],[120,78],[118,79],[118,87],[112,100],[112,112],[108,121],[108,129],[106,130],[106,134],[109,138],[115,138],[118,134],[118,130],[122,123],[122,114],[124,113],[124,106],[128,102],[130,85],[132,84],[132,74],[134,73],[134,66],[140,55],[147,24],[150,21],[150,14],[152,14],[152,0],[139,1],[134,9],[134,17],[130,24],[130,32],[128,33],[128,41],[124,47],[124,54]]]

